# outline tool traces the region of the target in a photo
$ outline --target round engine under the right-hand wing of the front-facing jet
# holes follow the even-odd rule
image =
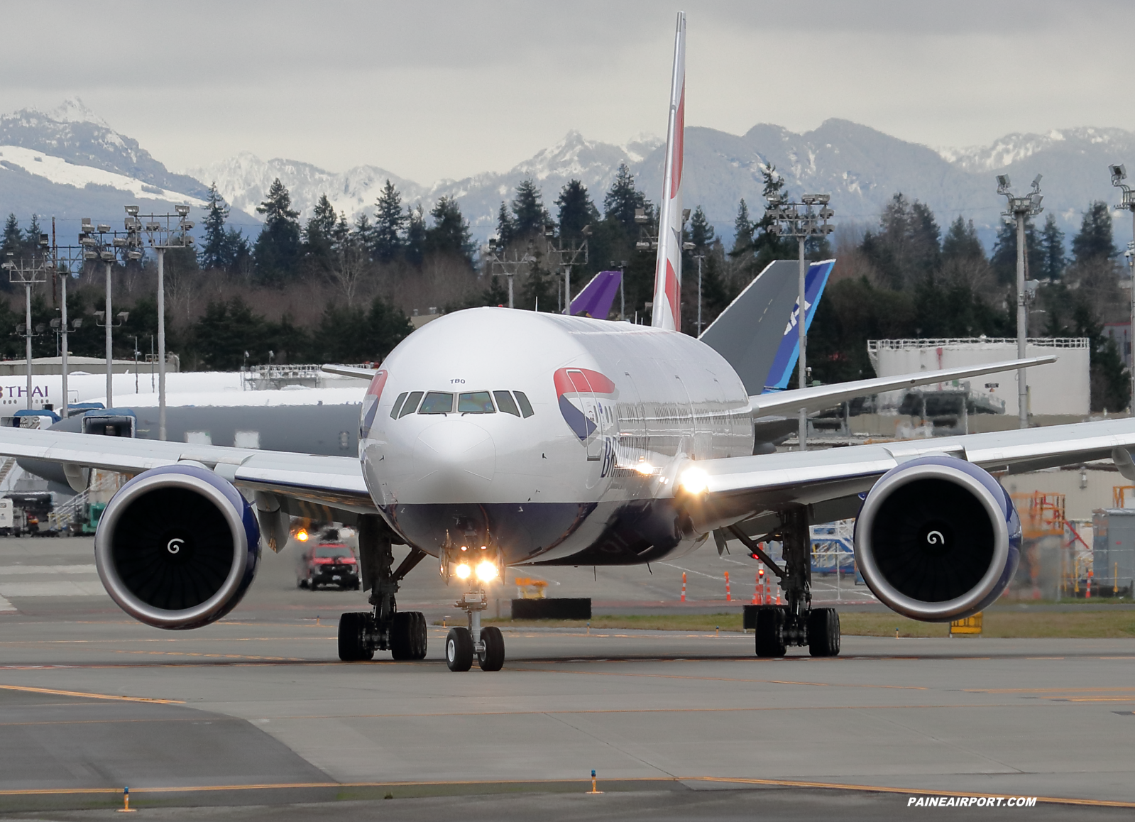
[[[855,555],[889,607],[926,622],[972,616],[1017,572],[1020,519],[1001,485],[952,456],[892,468],[864,500]]]

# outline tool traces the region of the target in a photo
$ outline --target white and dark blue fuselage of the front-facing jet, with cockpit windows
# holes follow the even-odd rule
[[[753,453],[745,387],[697,339],[482,308],[403,341],[363,403],[367,487],[407,543],[490,544],[508,563],[627,564],[696,546],[670,487]]]

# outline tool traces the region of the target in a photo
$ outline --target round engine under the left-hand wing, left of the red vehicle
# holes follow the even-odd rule
[[[252,506],[204,467],[140,473],[115,494],[94,535],[110,597],[154,628],[200,628],[241,602],[260,562]]]

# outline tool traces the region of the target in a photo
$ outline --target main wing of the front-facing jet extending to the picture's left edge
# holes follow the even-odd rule
[[[362,479],[362,468],[353,456],[163,443],[32,428],[0,428],[0,454],[59,463],[68,472],[101,468],[141,473],[160,465],[199,462],[237,487],[360,513],[375,511]]]

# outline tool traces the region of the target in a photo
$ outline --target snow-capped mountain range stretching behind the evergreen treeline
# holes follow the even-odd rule
[[[277,177],[302,217],[310,216],[326,193],[335,210],[351,220],[373,212],[390,179],[404,203],[420,203],[427,211],[442,196],[456,198],[474,237],[481,240],[494,230],[499,204],[510,201],[526,178],[536,181],[553,213],[560,190],[573,178],[588,187],[602,208],[619,165],[625,162],[639,187],[656,201],[664,153],[662,141],[654,136],[614,145],[569,132],[505,173],[431,184],[405,179],[380,166],[336,173],[296,160],[262,160],[249,152],[174,174],[137,141],[114,131],[74,99],[49,111],[24,109],[0,117],[0,215],[12,211],[22,220],[35,212],[76,223],[78,216],[117,221],[127,202],[149,201],[155,209],[175,202],[200,206],[208,185],[216,182],[233,207],[232,223],[255,233],[257,206]],[[1128,159],[1135,169],[1135,133],[1117,128],[1010,134],[989,145],[935,150],[840,119],[802,134],[770,124],[741,135],[689,127],[683,193],[686,204],[701,206],[726,242],[742,198],[750,213],[759,215],[762,173],[770,166],[783,175],[790,195],[831,193],[836,223],[869,226],[894,193],[902,192],[927,203],[943,230],[960,215],[973,219],[991,242],[1003,209],[995,174],[1010,174],[1022,191],[1036,174],[1043,174],[1044,207],[1058,215],[1070,235],[1093,200],[1115,201],[1108,165]],[[1128,232],[1128,220],[1118,220],[1116,240],[1126,242]]]

